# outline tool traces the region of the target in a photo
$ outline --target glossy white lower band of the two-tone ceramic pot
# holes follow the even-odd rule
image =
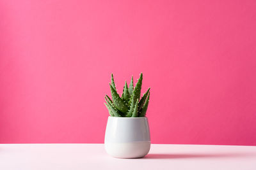
[[[105,143],[106,152],[116,158],[141,158],[150,150],[150,141]]]

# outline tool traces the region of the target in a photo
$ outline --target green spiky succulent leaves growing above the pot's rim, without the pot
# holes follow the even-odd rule
[[[125,81],[124,90],[120,97],[116,91],[113,74],[111,74],[111,83],[109,83],[109,86],[112,99],[106,95],[106,103],[104,103],[111,117],[145,117],[148,108],[150,88],[148,88],[147,92],[140,98],[142,79],[143,74],[141,73],[135,87],[133,86],[133,76],[129,87]]]

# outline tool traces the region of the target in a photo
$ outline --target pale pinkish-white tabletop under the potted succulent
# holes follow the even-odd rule
[[[256,169],[256,146],[151,145],[143,159],[116,159],[103,144],[0,144],[1,170]]]

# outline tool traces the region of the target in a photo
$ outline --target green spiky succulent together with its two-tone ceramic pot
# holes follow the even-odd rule
[[[148,120],[145,117],[150,88],[141,94],[143,74],[133,86],[133,77],[128,87],[125,81],[122,96],[116,91],[113,74],[111,74],[111,98],[106,95],[106,107],[109,111],[108,124],[105,133],[105,150],[117,158],[145,157],[150,150],[150,132]]]

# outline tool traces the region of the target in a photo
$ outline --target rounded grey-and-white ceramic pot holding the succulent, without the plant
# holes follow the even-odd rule
[[[141,158],[150,150],[147,117],[108,117],[105,150],[116,158]]]

